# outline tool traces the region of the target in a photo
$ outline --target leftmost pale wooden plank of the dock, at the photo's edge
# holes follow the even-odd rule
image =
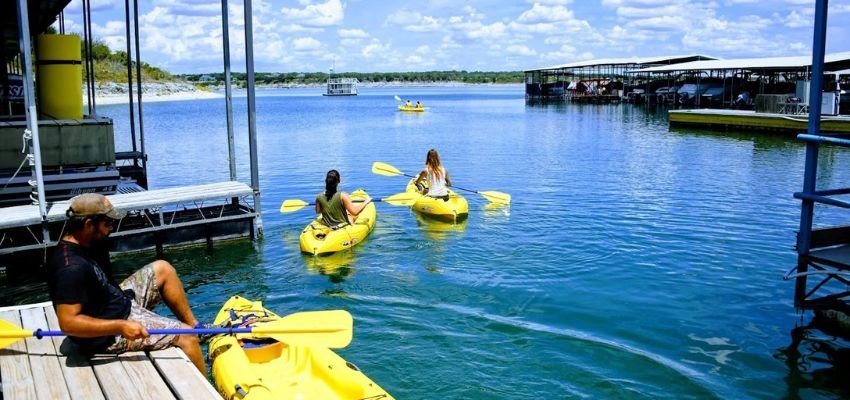
[[[21,326],[17,311],[0,311],[0,319]],[[23,340],[0,350],[0,383],[4,400],[35,399],[35,382],[32,379],[27,347]]]

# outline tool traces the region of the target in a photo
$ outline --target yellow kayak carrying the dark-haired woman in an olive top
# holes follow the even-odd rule
[[[357,189],[348,195],[352,201],[366,199],[366,192]],[[330,254],[350,249],[362,242],[375,228],[375,203],[369,203],[351,225],[329,227],[319,216],[301,231],[301,251],[313,255]]]

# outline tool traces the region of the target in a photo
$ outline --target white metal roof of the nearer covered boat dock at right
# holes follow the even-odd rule
[[[827,70],[850,67],[850,52],[834,53],[824,57]],[[629,71],[643,72],[674,72],[674,71],[708,71],[708,70],[752,70],[752,71],[797,71],[812,67],[811,56],[799,57],[769,57],[769,58],[738,58],[732,60],[704,60],[681,64],[662,65]]]

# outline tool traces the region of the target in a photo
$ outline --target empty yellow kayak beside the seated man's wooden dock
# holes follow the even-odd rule
[[[259,301],[233,296],[221,307],[215,324],[245,326],[248,321],[248,326],[255,326],[279,318]],[[216,389],[225,399],[393,398],[327,348],[288,346],[247,333],[213,337],[209,354]]]

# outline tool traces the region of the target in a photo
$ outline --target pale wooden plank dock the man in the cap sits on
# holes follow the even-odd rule
[[[58,330],[51,303],[0,308],[25,329]],[[0,350],[3,400],[221,399],[180,349],[84,357],[64,337],[29,338]]]

